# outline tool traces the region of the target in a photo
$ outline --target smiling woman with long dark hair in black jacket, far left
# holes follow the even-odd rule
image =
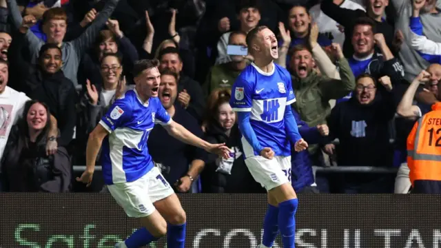
[[[12,127],[1,160],[3,192],[69,192],[72,167],[68,152],[58,147],[46,155],[50,112],[45,103],[25,103],[23,117]]]

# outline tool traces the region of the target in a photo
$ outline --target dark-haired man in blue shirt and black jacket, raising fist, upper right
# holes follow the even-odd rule
[[[389,76],[392,83],[401,81],[404,76],[402,65],[396,59],[387,46],[384,35],[376,34],[376,23],[367,17],[360,17],[353,26],[351,37],[353,55],[348,59],[354,76],[368,73],[375,79],[382,76]],[[380,48],[381,53],[376,52],[374,45]],[[383,92],[383,87],[379,87]],[[351,95],[345,97],[349,99]],[[345,101],[340,99],[340,101]]]

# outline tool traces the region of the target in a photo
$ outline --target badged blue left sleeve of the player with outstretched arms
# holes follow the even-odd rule
[[[127,99],[117,99],[112,106],[109,107],[107,113],[103,115],[99,124],[102,125],[107,132],[111,133],[129,121],[130,114],[132,114],[132,108],[127,103]]]

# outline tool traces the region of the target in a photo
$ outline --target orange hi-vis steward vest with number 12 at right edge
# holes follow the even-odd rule
[[[407,137],[407,165],[411,183],[441,181],[441,103],[418,120]]]

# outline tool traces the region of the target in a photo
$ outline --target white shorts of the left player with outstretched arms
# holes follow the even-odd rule
[[[153,167],[138,180],[107,185],[107,189],[116,203],[123,207],[125,214],[132,218],[153,214],[154,202],[174,194],[172,187],[157,167]]]

